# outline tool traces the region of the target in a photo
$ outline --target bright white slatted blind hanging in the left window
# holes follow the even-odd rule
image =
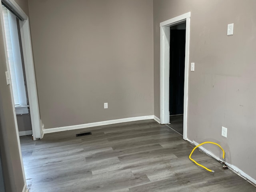
[[[3,5],[2,5],[2,12],[3,12],[3,18],[4,18],[4,32],[5,32],[5,39],[6,39],[9,68],[10,68],[10,76],[12,81],[12,93],[14,98],[14,105],[20,105],[17,78],[16,78],[15,65],[14,65],[14,54],[12,49],[12,38],[11,38],[11,31],[10,31],[10,22],[8,17],[8,9]]]

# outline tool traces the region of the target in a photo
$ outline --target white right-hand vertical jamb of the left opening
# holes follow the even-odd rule
[[[20,35],[22,41],[22,50],[24,56],[24,66],[26,73],[26,82],[28,89],[28,100],[30,106],[30,116],[33,131],[33,140],[41,139],[41,124],[38,107],[38,98],[36,91],[36,78],[34,72],[34,62],[32,56],[32,46],[30,40],[30,29],[28,19],[20,21]]]

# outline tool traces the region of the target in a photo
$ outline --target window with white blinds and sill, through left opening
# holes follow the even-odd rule
[[[28,114],[17,18],[2,5],[4,33],[16,114]]]

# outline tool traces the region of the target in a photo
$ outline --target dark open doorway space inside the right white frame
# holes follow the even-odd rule
[[[186,21],[170,26],[170,127],[183,135]]]

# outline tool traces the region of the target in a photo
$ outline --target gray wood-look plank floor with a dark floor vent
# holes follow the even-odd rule
[[[92,135],[76,137],[80,132]],[[145,120],[20,137],[29,192],[253,192],[172,129]]]

